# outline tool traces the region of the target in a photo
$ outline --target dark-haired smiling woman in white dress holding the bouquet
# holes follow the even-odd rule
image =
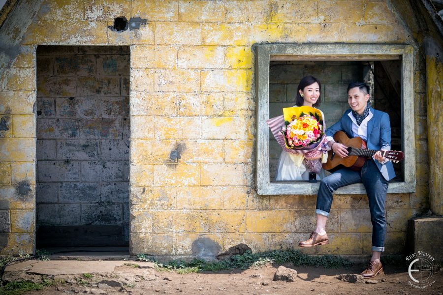
[[[320,106],[320,88],[320,81],[313,76],[306,76],[301,79],[297,88],[297,97],[295,100],[296,106],[308,106],[314,108]],[[323,118],[324,131],[326,130],[324,115],[323,112],[320,111],[320,113]],[[298,163],[299,156],[300,155],[298,154],[291,154],[283,150],[280,155],[275,180],[308,180],[309,171],[306,169],[305,161],[320,161],[322,155],[320,153],[318,157],[313,159],[304,158],[301,164]],[[316,178],[321,179],[323,177],[324,171],[321,170],[321,173],[317,174]]]

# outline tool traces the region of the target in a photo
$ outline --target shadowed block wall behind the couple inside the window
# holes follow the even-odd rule
[[[363,81],[366,65],[359,61],[271,61],[269,67],[269,117],[283,115],[293,107],[300,80],[313,75],[321,83],[319,109],[325,115],[326,128],[337,122],[348,108],[348,84]],[[282,148],[274,136],[269,138],[269,176],[275,179]]]

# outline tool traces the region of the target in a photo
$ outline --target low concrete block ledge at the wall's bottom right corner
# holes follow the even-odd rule
[[[431,255],[434,264],[443,263],[443,217],[415,217],[408,221],[408,255],[421,251]]]

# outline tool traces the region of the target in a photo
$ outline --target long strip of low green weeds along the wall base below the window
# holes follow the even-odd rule
[[[147,259],[147,256],[137,255],[137,259]],[[150,261],[149,259],[144,261]],[[252,253],[247,251],[243,255],[234,255],[230,259],[216,262],[206,262],[202,259],[193,259],[190,262],[184,260],[171,260],[167,264],[161,264],[156,261],[154,266],[158,271],[177,271],[177,273],[190,273],[197,271],[218,271],[222,269],[233,268],[259,268],[270,264],[282,265],[292,263],[295,266],[323,266],[324,268],[350,267],[352,263],[340,256],[322,255],[311,256],[300,252],[299,250],[273,250],[266,252]]]

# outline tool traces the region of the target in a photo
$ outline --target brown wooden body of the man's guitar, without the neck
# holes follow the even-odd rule
[[[334,140],[335,142],[347,147],[367,149],[366,142],[360,137],[348,138],[346,133],[343,131],[338,131],[334,135]],[[330,172],[334,172],[344,167],[354,171],[359,171],[367,159],[367,157],[362,156],[347,156],[346,158],[341,158],[338,155],[333,156],[332,153],[332,149],[328,151],[328,161],[323,164],[323,169]]]

